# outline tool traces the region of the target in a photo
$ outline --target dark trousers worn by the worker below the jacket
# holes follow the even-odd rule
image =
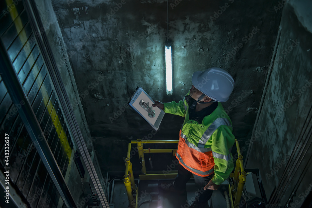
[[[192,173],[189,172],[187,169],[185,169],[182,165],[180,165],[180,163],[178,164],[178,175],[177,177],[174,179],[174,188],[176,190],[185,190],[186,188],[186,183],[188,182],[188,180],[191,178]],[[204,187],[208,184],[208,182],[212,179],[212,177],[214,176],[214,173],[211,174],[210,176],[206,176],[206,177],[201,177],[201,176],[197,176],[195,174],[193,174],[194,176],[194,180],[195,180],[195,184],[198,187],[198,190],[196,192],[198,192],[198,198],[199,198],[199,202],[200,203],[204,203],[210,199],[211,195],[212,195],[212,190],[210,189],[206,189],[204,190]],[[197,194],[197,193],[195,193]]]

